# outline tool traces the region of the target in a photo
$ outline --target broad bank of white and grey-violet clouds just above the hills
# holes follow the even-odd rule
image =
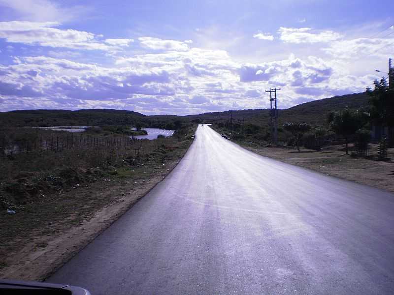
[[[18,32],[19,28],[22,33],[31,27],[45,30],[56,26],[29,22],[1,25],[0,32],[9,28]],[[304,32],[308,31],[305,28]],[[124,48],[123,45],[131,42],[131,39],[92,36],[81,37],[78,42],[99,43],[107,48]],[[40,42],[49,41],[40,39]],[[313,56],[297,58],[291,54],[287,59],[272,62],[240,63],[224,50],[190,48],[186,41],[144,37],[135,43],[133,49],[141,45],[138,54],[128,57],[124,51],[123,57],[115,58],[112,65],[106,63],[107,66],[76,62],[83,56],[58,55],[61,50],[53,50],[52,58],[15,57],[10,65],[0,64],[0,110],[26,106],[116,107],[132,108],[144,114],[186,115],[238,106],[264,108],[269,100],[265,99],[263,89],[273,86],[282,87],[280,107],[283,108],[294,105],[300,97],[313,100],[362,91],[370,78],[344,73],[346,62],[342,62],[341,68],[339,62]]]

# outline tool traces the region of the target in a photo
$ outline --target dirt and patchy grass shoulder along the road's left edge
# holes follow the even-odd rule
[[[0,213],[0,278],[41,281],[109,227],[178,164],[189,145],[127,177],[104,176]]]

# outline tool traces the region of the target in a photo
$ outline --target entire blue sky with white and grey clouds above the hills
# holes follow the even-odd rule
[[[0,0],[0,111],[197,114],[361,92],[394,1]]]

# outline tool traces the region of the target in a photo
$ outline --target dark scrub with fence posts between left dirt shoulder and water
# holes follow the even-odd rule
[[[132,139],[130,135],[146,131],[132,131],[125,126],[92,127],[80,133],[2,128],[0,206],[23,207],[76,183],[119,172],[131,175],[142,163],[162,161],[175,149],[186,149],[193,128],[191,124],[183,125],[173,136],[156,140]]]

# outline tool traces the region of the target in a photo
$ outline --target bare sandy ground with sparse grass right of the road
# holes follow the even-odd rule
[[[215,131],[220,132],[217,128]],[[344,145],[326,146],[320,151],[301,148],[298,152],[295,147],[265,147],[259,142],[245,141],[234,143],[265,157],[394,193],[394,148],[388,151],[392,161],[382,162],[366,157],[350,157],[345,154]],[[352,148],[353,145],[350,145]],[[377,154],[377,145],[371,145],[369,152]]]

